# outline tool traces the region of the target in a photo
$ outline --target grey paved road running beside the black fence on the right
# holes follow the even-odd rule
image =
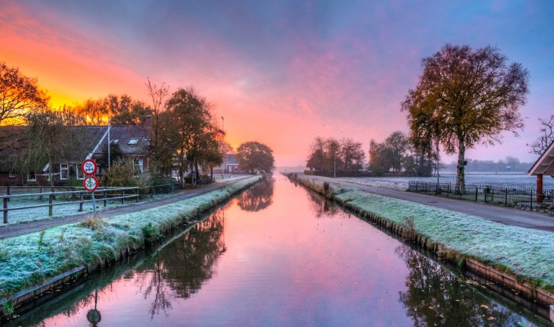
[[[551,215],[546,215],[545,213],[507,208],[505,206],[497,206],[493,204],[454,200],[447,197],[406,192],[395,188],[366,186],[343,179],[334,179],[330,177],[319,178],[326,179],[331,182],[340,182],[343,185],[354,186],[356,188],[359,188],[360,190],[370,193],[384,195],[387,197],[395,197],[397,199],[418,202],[421,204],[427,204],[428,206],[435,206],[440,209],[448,209],[461,213],[467,213],[468,215],[476,215],[477,217],[492,220],[494,222],[501,222],[502,224],[526,227],[531,229],[541,229],[543,231],[551,231],[554,233],[554,217],[552,217]]]

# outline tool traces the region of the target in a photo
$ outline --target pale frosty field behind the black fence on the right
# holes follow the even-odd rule
[[[348,177],[341,179],[373,184],[373,186],[388,186],[394,188],[408,188],[409,181],[436,182],[436,177]],[[445,172],[440,174],[440,181],[456,182],[456,173]],[[526,173],[465,173],[466,184],[498,185],[510,187],[535,188],[537,177],[529,176]],[[544,190],[554,190],[554,178],[543,177]]]

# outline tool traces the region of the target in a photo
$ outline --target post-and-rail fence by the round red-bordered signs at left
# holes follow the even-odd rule
[[[127,193],[125,193],[127,191]],[[129,193],[132,191],[132,193]],[[29,206],[8,206],[10,199],[14,198],[28,198],[33,199],[38,197],[39,200],[42,197],[48,197],[47,204],[33,204]],[[69,198],[71,201],[56,202],[54,203],[55,198]],[[139,202],[139,188],[138,187],[120,187],[120,188],[102,188],[94,191],[94,197],[96,201],[104,202],[104,206],[107,206],[109,200],[121,200],[121,204],[125,204],[125,199],[136,199],[136,202]],[[90,199],[89,199],[90,198]],[[54,206],[66,206],[69,204],[79,204],[79,210],[83,211],[83,204],[87,202],[92,202],[92,192],[89,191],[62,191],[62,192],[46,192],[46,193],[27,193],[27,194],[12,194],[12,195],[0,195],[0,200],[3,203],[2,215],[3,223],[8,224],[8,212],[15,210],[24,210],[24,209],[35,209],[48,207],[48,215],[53,215]],[[65,200],[65,199],[64,199]]]

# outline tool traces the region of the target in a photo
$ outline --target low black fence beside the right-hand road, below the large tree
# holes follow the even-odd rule
[[[408,191],[436,194],[463,200],[512,206],[521,209],[554,211],[554,190],[537,194],[533,188],[465,184],[455,188],[452,182],[409,181]]]

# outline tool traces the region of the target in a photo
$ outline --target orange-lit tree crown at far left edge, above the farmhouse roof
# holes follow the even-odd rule
[[[0,125],[23,123],[26,113],[44,108],[47,103],[48,96],[37,87],[35,78],[0,62]]]

